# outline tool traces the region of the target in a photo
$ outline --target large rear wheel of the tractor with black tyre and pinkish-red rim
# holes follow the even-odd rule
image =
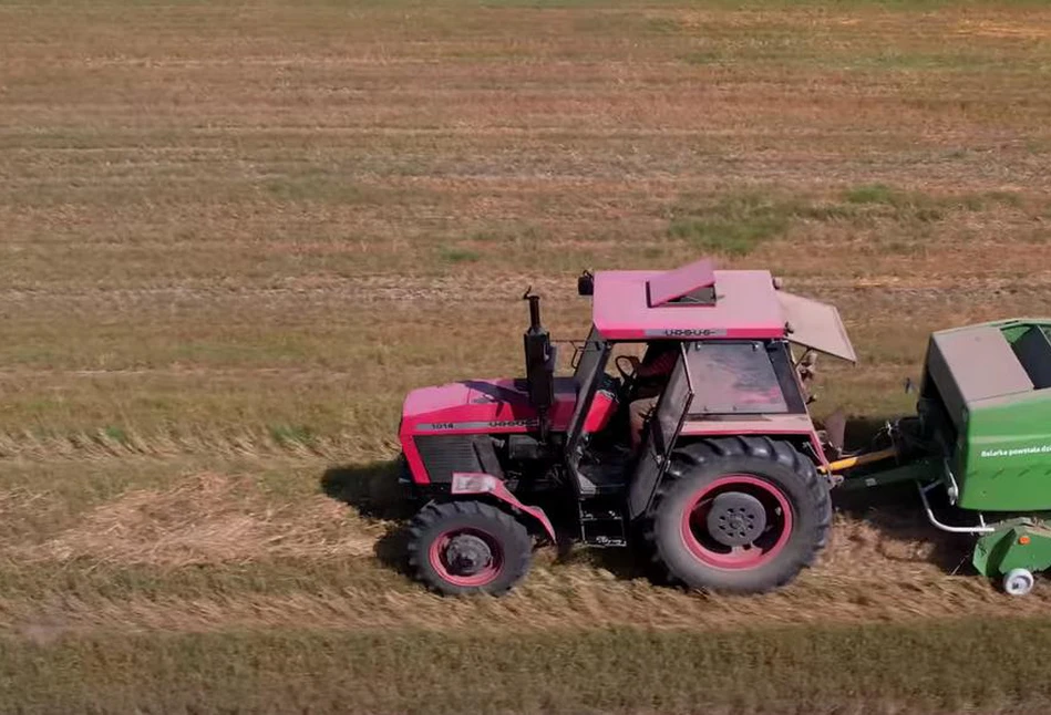
[[[673,581],[760,593],[811,566],[831,522],[828,487],[810,459],[784,442],[729,437],[672,455],[648,538]]]

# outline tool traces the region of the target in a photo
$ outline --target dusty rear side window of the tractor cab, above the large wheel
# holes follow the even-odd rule
[[[690,414],[784,414],[805,405],[787,348],[762,341],[697,342],[687,351],[694,396]]]

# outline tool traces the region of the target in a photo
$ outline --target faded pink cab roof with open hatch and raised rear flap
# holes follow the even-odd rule
[[[609,340],[790,341],[856,361],[833,305],[774,288],[766,270],[715,270],[700,260],[670,271],[599,271],[593,315]]]

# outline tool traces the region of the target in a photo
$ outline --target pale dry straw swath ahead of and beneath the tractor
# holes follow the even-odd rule
[[[165,467],[150,477],[157,486],[104,497],[66,483],[95,476],[71,468],[50,490],[10,485],[0,500],[7,524],[0,629],[21,632],[42,622],[78,631],[585,624],[711,631],[938,619],[947,608],[961,618],[1039,615],[1051,599],[1040,592],[1020,603],[968,568],[954,574],[966,542],[932,533],[908,501],[841,512],[818,566],[770,595],[655,588],[618,552],[577,550],[565,558],[539,552],[529,579],[507,598],[442,599],[399,573],[396,519],[361,518],[319,494],[321,466],[289,465],[284,478],[291,489],[279,476],[239,474],[249,464],[203,474]],[[32,475],[27,469],[23,478]],[[360,484],[344,481],[339,495],[368,514],[393,515],[382,476],[362,470]],[[80,508],[56,514],[60,505]],[[32,514],[48,518],[38,522]]]

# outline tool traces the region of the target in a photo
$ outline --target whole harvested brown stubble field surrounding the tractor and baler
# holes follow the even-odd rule
[[[528,284],[579,339],[580,269],[703,255],[838,305],[816,414],[909,412],[1051,313],[1049,87],[1039,1],[0,0],[0,712],[1047,712],[1051,587],[908,498],[762,598],[443,600],[391,458]]]

